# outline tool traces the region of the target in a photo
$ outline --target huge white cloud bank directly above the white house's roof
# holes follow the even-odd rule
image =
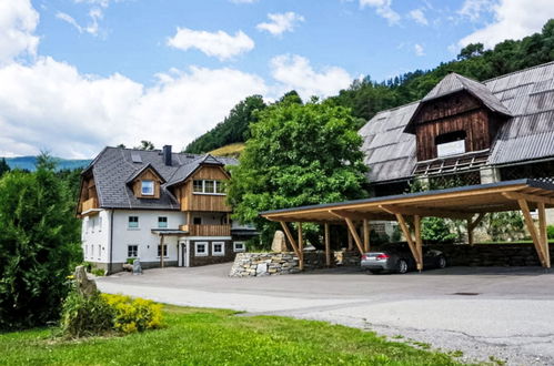
[[[121,74],[83,75],[51,58],[0,68],[0,156],[47,149],[91,157],[105,144],[140,140],[181,149],[241,99],[268,92],[259,77],[232,69],[173,70],[159,80],[147,89]]]

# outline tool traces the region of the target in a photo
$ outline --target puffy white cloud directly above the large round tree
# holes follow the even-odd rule
[[[304,100],[312,95],[324,98],[352,82],[352,77],[344,69],[328,67],[316,72],[306,58],[296,54],[278,55],[270,61],[270,67],[272,77],[280,83],[275,88],[278,95],[294,89]]]

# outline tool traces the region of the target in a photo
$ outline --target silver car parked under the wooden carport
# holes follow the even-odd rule
[[[406,243],[386,244],[375,252],[362,255],[362,268],[371,273],[395,272],[406,273],[416,270],[415,260]],[[423,267],[444,268],[444,253],[423,246]]]

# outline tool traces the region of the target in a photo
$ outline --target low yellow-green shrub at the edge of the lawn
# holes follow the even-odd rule
[[[161,326],[160,304],[123,295],[102,294],[102,298],[113,309],[113,328],[118,332],[134,333]]]

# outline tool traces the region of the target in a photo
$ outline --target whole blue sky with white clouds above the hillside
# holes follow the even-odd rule
[[[243,98],[322,98],[540,31],[554,1],[0,1],[0,156],[182,149]]]

